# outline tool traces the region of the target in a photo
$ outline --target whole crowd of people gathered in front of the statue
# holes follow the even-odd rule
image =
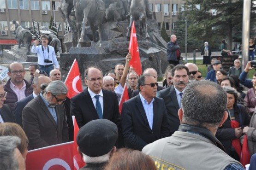
[[[0,81],[0,154],[9,155],[1,156],[0,169],[23,170],[28,150],[73,141],[74,115],[80,128],[78,151],[86,162],[81,170],[243,170],[239,161],[245,138],[252,159],[256,153],[256,73],[246,78],[254,68],[248,62],[241,70],[235,60],[226,72],[212,59],[202,80],[196,64],[177,64],[176,40],[172,35],[162,87],[154,68],[140,76],[129,68],[128,53],[125,64],[104,76],[100,68],[88,67],[87,87],[68,99],[60,70],[51,67],[50,48],[44,47],[48,37],[42,36],[42,48],[35,43],[32,50],[52,65],[31,65],[27,81],[24,66],[13,62],[10,79]],[[204,47],[204,53],[209,50]],[[125,83],[129,100],[119,112]]]

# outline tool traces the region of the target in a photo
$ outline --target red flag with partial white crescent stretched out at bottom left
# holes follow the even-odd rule
[[[73,170],[73,141],[31,150],[26,170]]]

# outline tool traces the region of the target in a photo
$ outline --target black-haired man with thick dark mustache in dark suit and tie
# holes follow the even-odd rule
[[[176,65],[172,70],[173,86],[159,91],[159,97],[165,101],[168,119],[170,121],[170,135],[179,129],[178,110],[181,97],[189,81],[189,69],[184,65]]]

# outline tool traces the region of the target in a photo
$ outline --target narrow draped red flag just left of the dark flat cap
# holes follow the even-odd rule
[[[77,151],[77,133],[79,131],[77,120],[75,116],[72,116],[73,118],[73,124],[74,124],[74,149],[73,149],[73,155],[74,155],[74,168],[75,170],[79,170],[85,165],[85,162],[83,162],[81,155]]]

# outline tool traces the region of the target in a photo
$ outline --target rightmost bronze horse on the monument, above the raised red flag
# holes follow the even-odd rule
[[[127,30],[126,36],[130,37],[132,22],[139,20],[140,21],[140,24],[139,24],[140,35],[143,34],[142,28],[144,28],[146,38],[149,38],[146,6],[145,6],[144,0],[131,0],[130,15],[131,15],[130,25]]]

